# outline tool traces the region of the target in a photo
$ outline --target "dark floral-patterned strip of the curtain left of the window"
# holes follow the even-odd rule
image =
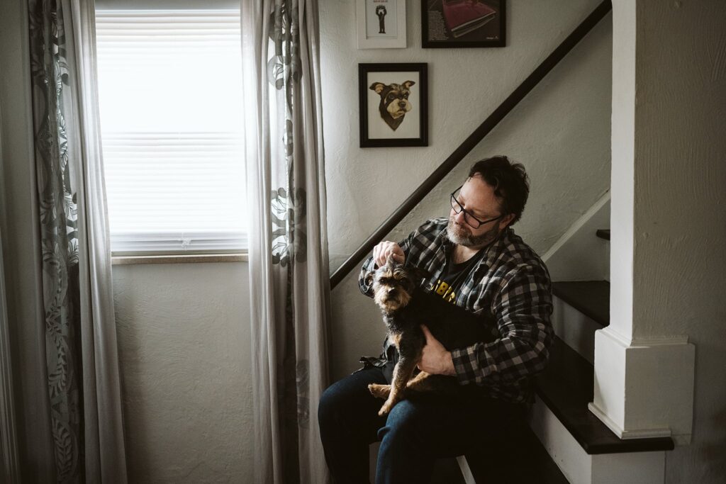
[[[46,369],[57,481],[83,482],[78,328],[78,206],[71,186],[64,95],[68,60],[62,11],[30,2],[30,72],[43,261]]]

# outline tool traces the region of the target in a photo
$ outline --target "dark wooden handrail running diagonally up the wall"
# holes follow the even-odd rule
[[[489,115],[489,118],[486,118],[484,123],[481,123],[481,125],[476,128],[474,132],[470,134],[469,137],[465,139],[464,142],[455,149],[448,158],[446,158],[446,160],[444,160],[444,163],[441,163],[439,168],[436,168],[436,170],[423,181],[423,183],[411,194],[411,196],[401,203],[399,208],[396,208],[391,216],[389,216],[386,221],[378,227],[378,229],[375,229],[370,237],[368,237],[340,267],[338,267],[338,269],[333,273],[333,276],[330,276],[330,289],[337,286],[346,274],[356,267],[366,257],[366,255],[371,252],[373,247],[375,247],[375,245],[378,244],[378,242],[380,242],[383,237],[388,234],[388,232],[393,230],[393,227],[398,225],[407,213],[409,213],[421,200],[423,200],[423,197],[425,197],[428,192],[431,192],[433,187],[439,184],[439,181],[444,179],[444,176],[452,171],[452,169],[454,169],[454,167],[466,155],[468,155],[468,153],[474,149],[474,147],[482,139],[484,139],[484,136],[492,131],[494,126],[497,126],[499,121],[504,119],[505,116],[509,114],[515,106],[524,99],[524,97],[526,97],[527,94],[529,94],[529,91],[534,89],[534,86],[537,86],[539,81],[542,81],[544,76],[550,73],[550,70],[552,70],[555,65],[558,65],[558,62],[563,60],[568,52],[570,52],[574,46],[576,46],[577,43],[587,35],[587,33],[590,33],[590,30],[592,30],[592,28],[594,28],[595,25],[597,25],[597,23],[608,14],[608,12],[610,12],[611,8],[611,1],[604,0],[597,6],[597,8],[595,8],[595,10],[592,11],[590,15],[587,16],[585,20],[583,20],[582,23],[580,23],[580,25],[578,25],[577,28],[575,28],[575,30],[573,30],[572,33],[567,36],[564,41],[562,41],[562,44],[560,44],[557,49],[555,49],[552,54],[547,57],[547,59],[543,60],[542,63],[537,66],[534,71],[532,71],[529,77],[522,81],[517,89],[515,89],[512,94],[510,94],[509,97],[502,102],[502,104],[499,104],[499,107],[497,107],[497,109]]]

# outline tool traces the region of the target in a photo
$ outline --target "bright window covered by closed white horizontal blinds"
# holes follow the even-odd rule
[[[99,7],[96,28],[113,253],[241,252],[239,9]]]

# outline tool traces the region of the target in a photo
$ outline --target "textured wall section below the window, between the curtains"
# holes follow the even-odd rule
[[[114,266],[129,481],[253,483],[246,263]]]

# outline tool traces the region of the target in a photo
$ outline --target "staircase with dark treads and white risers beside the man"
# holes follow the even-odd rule
[[[590,234],[610,239],[609,230]],[[595,384],[595,331],[610,321],[610,282],[557,281],[552,294],[558,336],[550,365],[537,379],[532,430],[570,483],[663,483],[671,438],[621,440],[587,408]]]

